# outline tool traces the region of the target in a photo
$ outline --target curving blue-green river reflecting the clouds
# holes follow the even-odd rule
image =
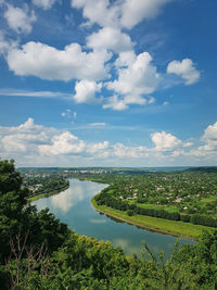
[[[145,241],[154,254],[164,250],[165,257],[168,257],[174,250],[175,237],[116,222],[92,207],[91,198],[105,187],[107,185],[71,179],[69,188],[65,191],[37,200],[33,204],[38,210],[49,207],[61,222],[66,223],[79,235],[108,240],[113,245],[122,247],[128,255],[136,253],[140,256],[142,241]],[[193,241],[180,239],[179,243],[193,243]]]

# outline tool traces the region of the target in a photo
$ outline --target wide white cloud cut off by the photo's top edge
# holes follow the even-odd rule
[[[82,9],[84,17],[102,27],[131,29],[142,20],[155,17],[171,0],[72,0],[72,7]]]

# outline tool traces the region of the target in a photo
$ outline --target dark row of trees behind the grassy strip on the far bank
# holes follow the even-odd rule
[[[115,210],[126,211],[128,215],[148,215],[152,217],[159,217],[170,220],[181,220],[184,223],[192,223],[194,225],[202,225],[207,227],[217,228],[217,219],[201,215],[201,214],[180,214],[180,213],[169,213],[163,209],[144,209],[136,205],[135,203],[129,203],[127,201],[122,201],[118,198],[115,198],[110,192],[110,187],[103,189],[100,194],[94,197],[98,205],[111,206]]]

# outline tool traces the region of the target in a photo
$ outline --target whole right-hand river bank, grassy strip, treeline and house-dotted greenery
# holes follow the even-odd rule
[[[215,171],[117,176],[95,196],[94,206],[141,226],[150,227],[152,220],[153,228],[196,239],[204,227],[217,227]]]

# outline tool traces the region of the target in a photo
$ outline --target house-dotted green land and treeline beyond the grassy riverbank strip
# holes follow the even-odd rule
[[[95,201],[98,205],[126,211],[129,216],[139,214],[215,228],[216,178],[206,171],[116,176]],[[208,216],[210,211],[213,216]]]

